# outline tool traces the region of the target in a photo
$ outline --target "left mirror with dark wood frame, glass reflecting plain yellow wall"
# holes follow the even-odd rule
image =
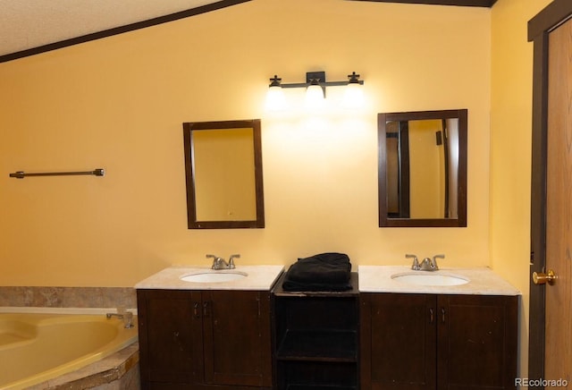
[[[189,229],[265,227],[260,120],[182,127]]]

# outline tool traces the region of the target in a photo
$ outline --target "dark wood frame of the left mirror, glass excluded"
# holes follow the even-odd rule
[[[260,119],[222,122],[182,123],[185,149],[185,176],[187,182],[187,220],[189,229],[240,229],[265,227],[264,187],[262,180],[262,141],[260,135]],[[193,138],[192,131],[223,130],[223,129],[252,129],[254,141],[255,194],[257,216],[254,220],[244,221],[198,221],[195,192]]]

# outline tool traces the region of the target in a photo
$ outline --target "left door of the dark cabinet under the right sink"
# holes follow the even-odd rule
[[[434,295],[361,293],[361,388],[434,389]]]

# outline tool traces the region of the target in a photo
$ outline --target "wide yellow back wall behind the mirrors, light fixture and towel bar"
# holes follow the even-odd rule
[[[485,8],[254,0],[0,64],[0,284],[132,285],[212,252],[489,265],[490,31]],[[364,109],[265,112],[273,74],[315,70],[360,73]],[[469,112],[467,228],[380,229],[376,114],[452,108]],[[250,118],[266,228],[188,230],[181,123]],[[96,167],[105,177],[8,177]]]

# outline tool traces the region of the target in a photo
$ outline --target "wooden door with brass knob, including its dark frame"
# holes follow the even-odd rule
[[[571,17],[572,2],[553,0],[528,22],[528,40],[534,40],[530,271],[537,276],[531,277],[530,284],[528,378],[562,378],[568,383],[572,366]],[[546,278],[550,269],[556,274],[552,284]]]

